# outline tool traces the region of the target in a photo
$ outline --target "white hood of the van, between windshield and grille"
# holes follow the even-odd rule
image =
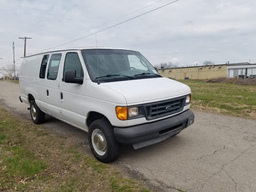
[[[165,77],[102,83],[102,85],[122,94],[127,105],[172,99],[191,92],[187,85]]]

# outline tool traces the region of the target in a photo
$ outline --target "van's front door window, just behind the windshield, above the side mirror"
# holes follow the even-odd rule
[[[75,70],[76,77],[84,77],[84,71],[77,53],[67,53],[64,63],[63,79],[64,74],[67,70]]]

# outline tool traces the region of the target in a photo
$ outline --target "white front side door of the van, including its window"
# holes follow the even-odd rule
[[[66,70],[75,70],[76,77],[83,77],[83,84],[65,83]],[[60,71],[60,106],[63,119],[69,124],[85,129],[86,72],[80,51],[65,51]]]

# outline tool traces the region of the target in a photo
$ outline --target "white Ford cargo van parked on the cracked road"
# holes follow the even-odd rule
[[[88,132],[93,155],[114,161],[119,143],[135,149],[194,123],[190,88],[164,78],[139,52],[85,47],[23,58],[20,101],[32,121],[45,114]]]

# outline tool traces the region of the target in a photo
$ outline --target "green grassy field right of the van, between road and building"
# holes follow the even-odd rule
[[[256,86],[179,80],[191,88],[191,108],[256,119]]]

